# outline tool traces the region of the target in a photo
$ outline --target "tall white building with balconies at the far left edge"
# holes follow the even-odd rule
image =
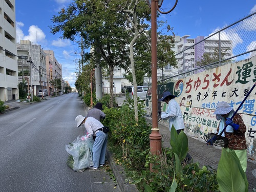
[[[0,1],[0,99],[18,99],[15,0]]]

